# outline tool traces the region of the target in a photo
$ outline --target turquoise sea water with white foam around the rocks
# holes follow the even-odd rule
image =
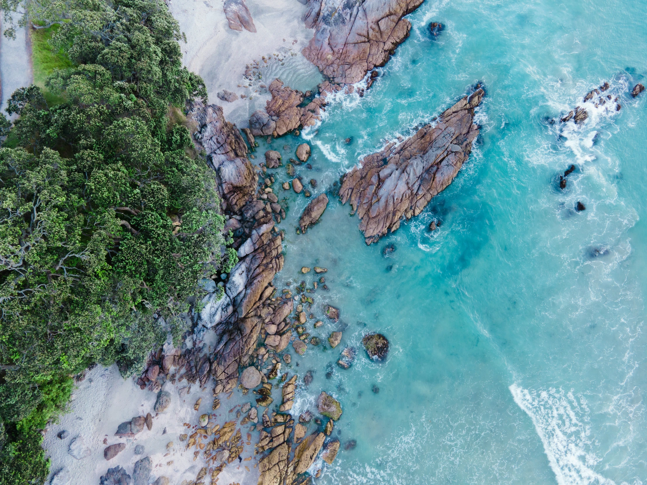
[[[428,1],[362,100],[342,96],[316,133],[272,142],[289,146],[285,159],[309,140],[313,169],[297,169],[318,180],[316,195],[470,85],[487,89],[481,136],[454,183],[377,244],[364,244],[333,197],[322,222],[297,235],[307,200],[288,193],[276,283],[310,283],[302,266],[327,267],[330,290],[314,294],[314,314],[331,303],[342,318],[307,329],[324,341],[344,330],[340,347],[310,346],[291,364],[314,374],[296,413],[314,411],[322,390],[344,411],[333,431],[342,451],[315,483],[647,481],[647,95],[628,96],[647,72],[646,6]],[[430,21],[446,26],[437,40]],[[604,81],[618,113],[591,110],[582,127],[547,122]],[[556,176],[570,164],[578,168],[560,191]],[[578,200],[586,211],[573,210]],[[433,219],[442,226],[430,233]],[[391,342],[385,363],[361,351],[367,331]],[[349,345],[360,352],[344,371],[334,362]],[[356,447],[343,449],[349,440]]]

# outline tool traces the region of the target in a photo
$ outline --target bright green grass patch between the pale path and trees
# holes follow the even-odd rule
[[[47,104],[51,107],[65,102],[63,96],[52,94],[45,87],[47,76],[54,72],[54,69],[67,69],[73,67],[74,63],[67,57],[63,49],[56,50],[49,44],[49,39],[58,30],[60,25],[52,25],[48,28],[32,30],[32,60],[34,62],[34,84],[36,84]]]

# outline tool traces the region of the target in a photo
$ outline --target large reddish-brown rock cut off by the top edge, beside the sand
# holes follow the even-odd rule
[[[305,25],[314,36],[303,55],[334,83],[356,83],[383,66],[409,36],[402,17],[422,0],[309,0]]]

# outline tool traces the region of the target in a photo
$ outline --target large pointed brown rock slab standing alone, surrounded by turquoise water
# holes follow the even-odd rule
[[[479,134],[474,108],[485,96],[477,89],[401,144],[368,155],[344,175],[340,198],[359,215],[366,244],[397,230],[448,186],[467,160]]]

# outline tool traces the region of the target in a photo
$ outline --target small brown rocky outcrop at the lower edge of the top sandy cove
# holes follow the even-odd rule
[[[314,98],[305,107],[300,107],[305,99],[303,92],[283,86],[280,79],[270,83],[269,91],[272,99],[267,102],[265,111],[254,111],[249,119],[252,135],[281,136],[299,127],[313,126],[321,120],[325,98]]]

